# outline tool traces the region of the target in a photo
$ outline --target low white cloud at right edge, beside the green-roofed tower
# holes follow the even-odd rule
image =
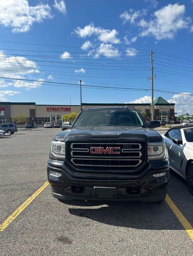
[[[193,114],[193,96],[191,93],[175,94],[171,99],[167,100],[169,103],[175,103],[175,112],[178,116],[183,112]]]

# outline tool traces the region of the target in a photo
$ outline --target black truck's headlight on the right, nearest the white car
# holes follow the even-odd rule
[[[149,160],[167,159],[167,149],[164,142],[148,144],[148,158]]]

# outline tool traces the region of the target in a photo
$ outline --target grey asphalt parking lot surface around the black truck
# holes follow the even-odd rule
[[[173,172],[162,203],[53,198],[46,164],[59,130],[0,138],[0,255],[193,256],[193,196]]]

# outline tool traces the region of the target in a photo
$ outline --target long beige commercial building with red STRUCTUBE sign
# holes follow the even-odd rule
[[[175,103],[168,103],[162,97],[158,97],[153,102],[154,120],[163,120],[167,123],[174,123]],[[151,120],[150,103],[82,103],[82,109],[96,107],[131,107],[137,108],[142,113],[146,113],[146,121]],[[39,105],[35,102],[0,102],[0,124],[12,122],[12,118],[22,113],[28,116],[29,122],[36,126],[41,126],[45,122],[61,122],[62,115],[71,112],[79,113],[80,105]]]

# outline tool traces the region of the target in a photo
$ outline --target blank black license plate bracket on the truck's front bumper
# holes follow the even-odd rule
[[[117,198],[116,187],[94,187],[95,198]]]

